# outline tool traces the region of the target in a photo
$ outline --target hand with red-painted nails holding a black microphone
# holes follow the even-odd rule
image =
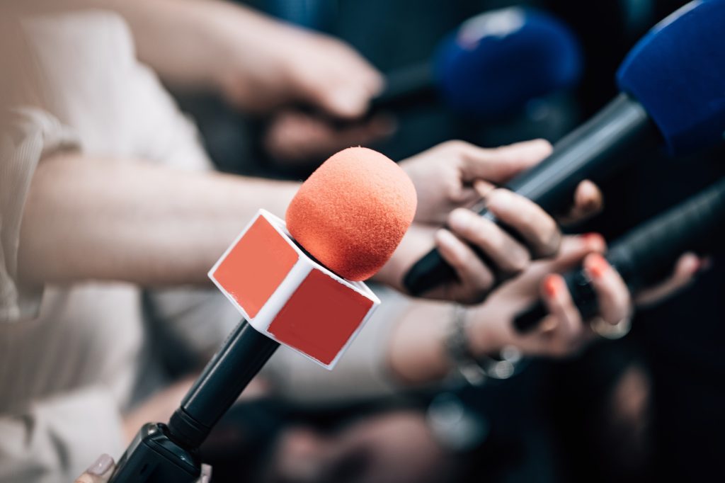
[[[467,316],[472,350],[486,354],[513,345],[527,355],[559,358],[573,355],[597,339],[591,321],[582,320],[563,278],[558,275],[582,260],[597,292],[598,320],[616,325],[629,318],[633,311],[632,297],[621,276],[600,255],[604,250],[604,241],[597,234],[567,236],[555,260],[532,263],[525,273],[497,289],[483,305],[471,307]],[[653,303],[670,297],[689,284],[702,267],[703,263],[695,255],[685,254],[671,278],[635,294],[634,300]],[[539,298],[546,303],[550,315],[533,331],[519,334],[513,328],[513,319]]]

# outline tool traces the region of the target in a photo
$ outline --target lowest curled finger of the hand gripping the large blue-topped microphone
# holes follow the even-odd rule
[[[494,284],[494,275],[476,253],[450,231],[436,232],[436,246],[444,260],[453,268],[461,284],[475,292],[487,292]]]

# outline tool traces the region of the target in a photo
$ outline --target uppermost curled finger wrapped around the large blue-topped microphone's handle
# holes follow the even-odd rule
[[[529,199],[495,189],[486,198],[486,207],[506,225],[517,231],[535,257],[550,257],[558,252],[561,232],[554,218]]]

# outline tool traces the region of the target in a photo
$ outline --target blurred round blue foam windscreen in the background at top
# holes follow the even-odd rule
[[[563,22],[513,7],[463,23],[442,41],[434,66],[448,107],[491,119],[575,85],[581,77],[581,49]]]

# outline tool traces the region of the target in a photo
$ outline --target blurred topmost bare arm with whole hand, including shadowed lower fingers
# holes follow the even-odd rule
[[[277,159],[325,159],[394,131],[389,116],[363,119],[383,88],[381,74],[334,37],[223,0],[62,0],[43,7],[123,15],[139,59],[171,88],[220,94],[238,110],[272,115],[265,145]],[[290,106],[317,114],[276,114]]]

